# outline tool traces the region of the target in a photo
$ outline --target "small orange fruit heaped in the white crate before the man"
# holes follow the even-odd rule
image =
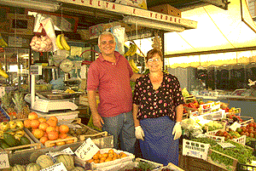
[[[95,163],[102,163],[102,162],[110,162],[119,158],[127,157],[127,155],[124,152],[120,152],[117,154],[113,151],[113,149],[110,149],[106,153],[101,153],[101,151],[97,151],[97,153],[86,162],[95,162]]]

